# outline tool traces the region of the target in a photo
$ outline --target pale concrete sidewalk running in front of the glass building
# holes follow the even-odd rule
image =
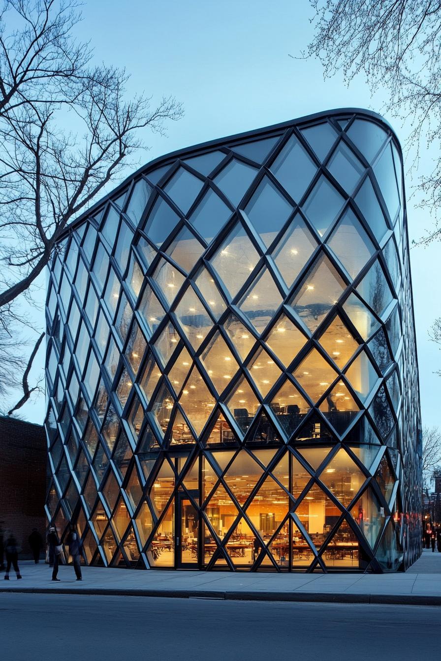
[[[141,571],[60,566],[52,582],[47,564],[20,563],[22,580],[0,574],[0,592],[108,594],[221,600],[407,603],[441,605],[441,553],[424,550],[421,559],[399,574],[258,574],[247,572]]]

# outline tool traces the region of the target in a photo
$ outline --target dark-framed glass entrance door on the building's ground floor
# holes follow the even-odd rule
[[[194,500],[198,500],[199,492],[190,491]],[[176,520],[176,565],[177,568],[198,566],[198,510],[193,506],[187,494],[177,496]]]

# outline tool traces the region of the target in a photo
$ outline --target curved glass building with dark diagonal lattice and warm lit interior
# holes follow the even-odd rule
[[[48,519],[87,561],[394,571],[421,551],[402,157],[337,110],[156,159],[48,286]]]

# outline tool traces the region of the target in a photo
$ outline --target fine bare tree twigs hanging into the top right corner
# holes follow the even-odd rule
[[[421,178],[421,206],[434,227],[417,243],[441,239],[441,3],[437,0],[310,0],[315,36],[303,57],[318,58],[325,77],[362,73],[372,91],[389,91],[385,112],[409,120],[407,146],[432,147],[434,167]],[[425,154],[424,154],[425,155]]]

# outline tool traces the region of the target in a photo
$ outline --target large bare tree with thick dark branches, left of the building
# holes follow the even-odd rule
[[[79,6],[4,0],[0,11],[0,319],[9,329],[17,296],[67,224],[145,148],[146,128],[162,132],[182,115],[173,97],[126,100],[126,71],[93,65],[76,40]]]

